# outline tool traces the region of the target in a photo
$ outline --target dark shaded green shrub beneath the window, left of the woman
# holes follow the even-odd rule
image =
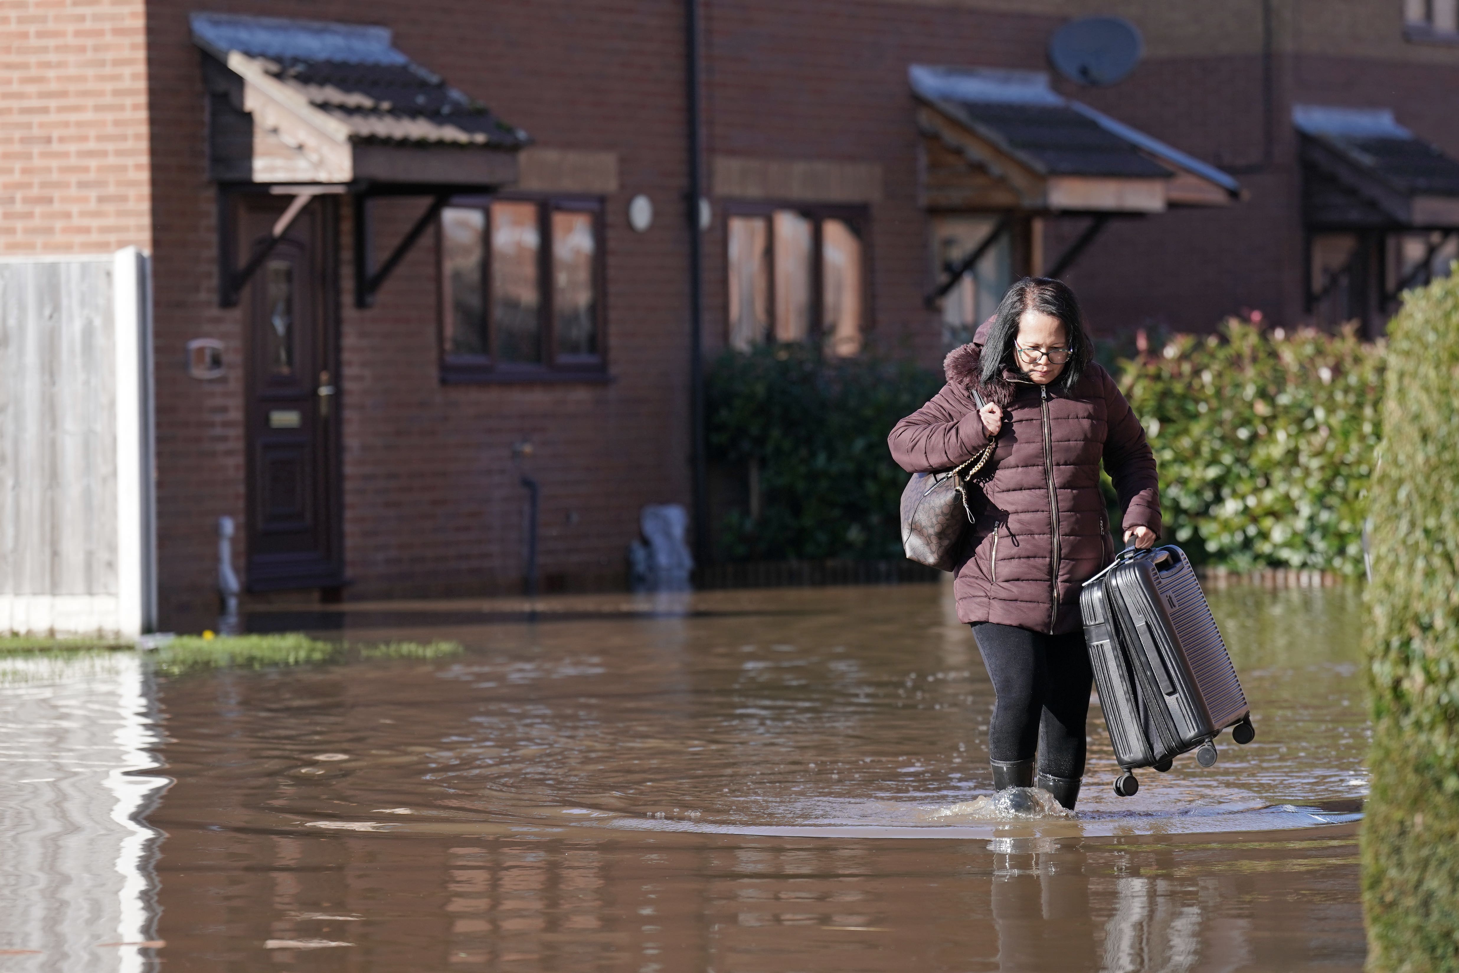
[[[887,433],[941,375],[875,354],[823,357],[802,344],[725,352],[709,369],[709,458],[759,468],[760,516],[731,512],[718,547],[744,559],[902,557],[907,474]]]

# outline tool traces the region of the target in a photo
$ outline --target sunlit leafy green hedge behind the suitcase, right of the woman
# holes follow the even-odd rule
[[[1236,570],[1363,570],[1382,344],[1230,319],[1121,362],[1160,464],[1166,537]]]

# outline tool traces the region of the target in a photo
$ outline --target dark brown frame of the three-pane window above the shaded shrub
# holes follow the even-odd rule
[[[730,321],[730,287],[732,280],[730,277],[730,217],[734,216],[763,216],[767,226],[767,245],[769,245],[769,280],[766,282],[767,299],[770,306],[770,333],[766,337],[766,344],[788,344],[785,341],[778,341],[775,337],[775,212],[776,210],[792,210],[811,222],[811,279],[810,279],[810,328],[805,334],[805,344],[814,347],[823,347],[826,341],[826,290],[824,290],[824,249],[821,244],[821,222],[827,219],[842,220],[851,226],[856,239],[861,241],[861,338],[862,352],[867,347],[867,338],[871,336],[875,327],[875,293],[872,287],[872,267],[875,265],[871,247],[871,206],[861,203],[797,203],[794,200],[725,200],[722,203],[722,219],[719,220],[724,228],[719,232],[719,242],[724,249],[724,268],[725,287],[722,299],[725,302],[722,318],[722,337],[725,347],[730,346],[730,333],[734,325]],[[852,356],[855,357],[855,356]]]

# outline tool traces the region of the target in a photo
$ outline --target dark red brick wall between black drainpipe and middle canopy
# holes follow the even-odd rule
[[[871,207],[874,337],[941,362],[928,225],[918,207],[918,133],[909,64],[1042,69],[1059,19],[845,0],[715,0],[706,7],[708,150],[719,155],[877,162]],[[725,341],[724,220],[706,252],[708,344]]]

